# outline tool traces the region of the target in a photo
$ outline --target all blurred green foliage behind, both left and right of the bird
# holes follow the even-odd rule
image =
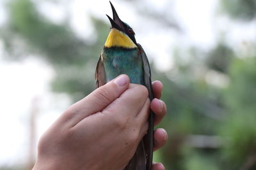
[[[254,0],[221,3],[233,18],[255,19]],[[92,41],[77,37],[68,20],[54,24],[42,17],[34,1],[12,0],[8,12],[8,24],[0,29],[8,59],[22,60],[29,54],[44,59],[56,71],[52,90],[66,92],[74,101],[92,92],[107,24],[91,18]],[[186,61],[184,51],[188,51]],[[195,46],[179,47],[172,55],[175,68],[170,71],[159,72],[152,63],[153,80],[163,82],[162,99],[168,105],[168,115],[159,127],[169,134],[168,143],[154,159],[175,170],[256,169],[256,56],[238,57],[224,41],[207,52]],[[228,85],[209,83],[216,77]]]

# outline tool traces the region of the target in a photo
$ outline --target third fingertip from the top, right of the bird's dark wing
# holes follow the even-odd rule
[[[166,141],[168,140],[168,134],[164,129],[156,129],[154,131],[154,148],[153,150],[156,151],[157,149],[161,148]]]

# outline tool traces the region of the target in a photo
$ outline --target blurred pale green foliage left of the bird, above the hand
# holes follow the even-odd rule
[[[67,92],[74,101],[92,92],[95,63],[109,26],[92,17],[97,38],[93,42],[85,41],[77,37],[67,23],[58,25],[42,17],[31,1],[11,1],[8,5],[10,23],[1,30],[1,35],[10,58],[38,53],[56,71],[52,81],[54,91]],[[22,41],[19,45],[25,50],[17,48],[17,39]]]

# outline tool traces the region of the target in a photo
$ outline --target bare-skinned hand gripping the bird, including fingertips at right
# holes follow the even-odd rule
[[[166,105],[159,98],[163,84],[152,83],[154,99],[143,85],[122,74],[94,90],[63,113],[40,138],[36,169],[123,169],[147,132],[148,110],[159,124]],[[154,150],[168,139],[164,129],[154,132]],[[152,170],[164,170],[154,163]]]

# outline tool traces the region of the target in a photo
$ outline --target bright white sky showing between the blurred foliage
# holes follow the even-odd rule
[[[168,0],[144,0],[145,5],[151,6],[156,11],[161,11],[166,1]],[[66,16],[70,17],[72,28],[84,38],[93,34],[87,13],[102,18],[106,22],[108,22],[106,13],[112,15],[109,1],[74,0],[70,2],[65,0],[65,2],[66,4],[58,6],[42,3],[40,11],[57,23],[62,22]],[[185,31],[185,34],[180,36],[170,29],[157,27],[154,22],[150,22],[150,18],[138,17],[138,14],[129,10],[132,8],[131,4],[128,6],[127,2],[112,1],[120,18],[133,27],[137,41],[143,45],[147,53],[150,53],[150,56],[154,56],[151,60],[154,60],[157,68],[163,71],[173,66],[172,46],[195,45],[208,49],[215,45],[218,31],[228,29],[230,31],[227,38],[234,48],[241,46],[242,41],[255,40],[255,25],[235,24],[227,17],[216,18],[217,2],[217,0],[173,0],[172,13]],[[0,25],[6,19],[3,11],[3,1],[0,1]],[[54,77],[54,71],[47,64],[33,59],[33,56],[23,62],[6,62],[3,60],[3,55],[3,43],[0,39],[0,110],[2,111],[0,114],[0,166],[26,161],[28,116],[31,101],[35,97],[39,99],[40,106],[37,136],[40,136],[70,105],[65,94],[57,95],[50,92],[49,82]]]

